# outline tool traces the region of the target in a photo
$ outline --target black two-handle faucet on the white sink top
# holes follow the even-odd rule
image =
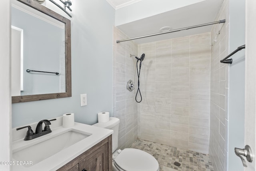
[[[39,121],[37,126],[36,126],[36,132],[34,133],[33,130],[31,129],[30,126],[25,126],[25,127],[20,127],[20,128],[17,128],[16,130],[20,130],[20,129],[23,129],[23,128],[28,128],[28,131],[26,133],[26,136],[24,138],[25,141],[27,140],[30,140],[30,139],[34,139],[34,138],[37,138],[37,137],[41,137],[42,135],[46,135],[48,133],[51,133],[52,130],[50,129],[50,126],[51,123],[50,121],[55,121],[56,119],[52,119],[52,120],[42,120],[42,121]],[[42,124],[44,123],[44,130],[42,129]]]

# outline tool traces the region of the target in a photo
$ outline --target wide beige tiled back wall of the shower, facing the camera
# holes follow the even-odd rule
[[[210,33],[138,45],[140,139],[208,153],[210,49]]]

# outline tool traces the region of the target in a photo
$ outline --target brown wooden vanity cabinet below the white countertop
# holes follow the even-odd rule
[[[57,171],[112,171],[112,135],[60,167]]]

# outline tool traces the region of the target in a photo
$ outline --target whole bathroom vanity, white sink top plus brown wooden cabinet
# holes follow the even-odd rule
[[[37,123],[29,125],[35,130]],[[28,141],[26,129],[12,129],[13,171],[112,171],[112,130],[77,122],[64,128],[62,117],[50,128],[51,133]],[[20,161],[31,164],[16,164]]]

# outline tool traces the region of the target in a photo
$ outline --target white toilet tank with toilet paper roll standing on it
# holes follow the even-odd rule
[[[110,117],[108,122],[104,123],[95,123],[92,126],[96,127],[102,127],[106,129],[111,129],[114,131],[112,134],[112,153],[117,149],[118,147],[118,127],[119,127],[120,119],[116,117]]]

